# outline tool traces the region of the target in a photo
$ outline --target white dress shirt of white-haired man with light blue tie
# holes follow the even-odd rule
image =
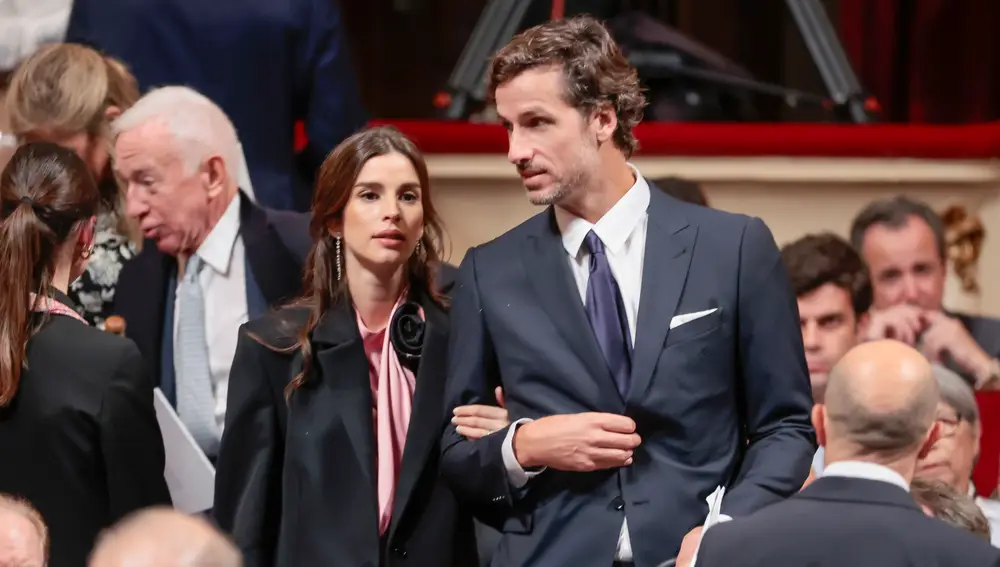
[[[236,354],[237,330],[247,322],[246,253],[240,236],[240,195],[226,207],[196,254],[205,262],[198,281],[205,297],[205,339],[215,395],[215,419],[222,431],[229,391],[229,368]],[[181,278],[178,275],[177,281]],[[176,293],[176,290],[175,290]],[[174,344],[181,296],[174,296]]]

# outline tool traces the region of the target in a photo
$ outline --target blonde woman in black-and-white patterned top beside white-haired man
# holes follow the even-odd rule
[[[138,230],[125,215],[111,169],[111,122],[139,98],[125,66],[89,47],[57,44],[28,57],[11,77],[7,113],[21,141],[47,141],[75,151],[100,190],[94,254],[69,296],[88,323],[111,314],[122,263],[136,253]]]

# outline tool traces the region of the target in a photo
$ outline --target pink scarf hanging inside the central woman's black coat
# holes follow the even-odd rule
[[[403,304],[404,293],[389,314],[389,321],[396,309]],[[422,316],[422,314],[421,314]],[[371,377],[372,400],[375,403],[375,439],[378,448],[378,505],[379,534],[384,534],[392,520],[392,503],[396,495],[396,478],[403,459],[406,430],[410,424],[413,405],[413,372],[399,362],[396,349],[389,342],[388,326],[372,331],[358,315],[358,329],[368,357]]]

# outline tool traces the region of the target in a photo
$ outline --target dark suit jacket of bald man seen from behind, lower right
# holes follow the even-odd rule
[[[989,541],[928,517],[905,490],[827,477],[705,532],[699,567],[1000,567]]]

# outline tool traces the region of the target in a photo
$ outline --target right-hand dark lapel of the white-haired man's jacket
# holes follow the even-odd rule
[[[242,194],[240,235],[248,268],[267,303],[273,307],[298,295],[302,287],[302,266],[281,243],[264,209]]]

